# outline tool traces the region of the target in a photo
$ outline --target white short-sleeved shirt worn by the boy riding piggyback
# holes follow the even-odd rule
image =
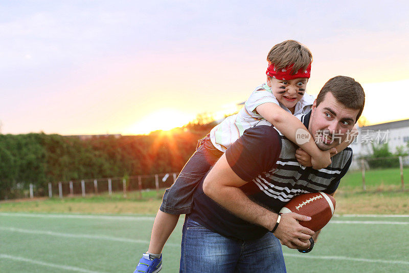
[[[276,103],[282,109],[291,113],[288,108],[280,104],[267,83],[263,83],[256,87],[239,113],[226,117],[210,131],[210,139],[213,145],[218,150],[225,152],[243,134],[244,130],[251,128],[258,121],[264,119],[256,113],[256,107],[266,102]],[[311,110],[313,102],[313,96],[304,94],[296,104],[294,115],[307,114]]]

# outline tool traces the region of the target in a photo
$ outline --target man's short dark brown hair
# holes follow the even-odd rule
[[[325,83],[316,97],[316,106],[320,105],[328,92],[330,92],[338,102],[344,104],[346,108],[359,109],[355,122],[359,119],[363,106],[365,106],[365,92],[363,92],[363,88],[359,82],[346,76],[331,78]]]

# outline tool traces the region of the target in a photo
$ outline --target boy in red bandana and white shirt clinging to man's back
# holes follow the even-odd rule
[[[227,117],[199,141],[196,152],[173,185],[165,191],[153,224],[148,251],[143,254],[134,273],[155,273],[162,269],[162,249],[179,215],[191,212],[196,185],[244,130],[258,121],[266,119],[285,137],[299,144],[303,162],[310,161],[314,169],[322,169],[331,163],[330,153],[335,154],[335,149],[320,150],[312,137],[306,143],[298,143],[296,139],[300,130],[309,134],[294,115],[308,113],[314,101],[311,95],[305,94],[311,71],[311,52],[297,41],[286,40],[271,48],[267,61],[266,83],[254,90],[238,114]],[[343,150],[348,144],[342,143],[337,149]]]

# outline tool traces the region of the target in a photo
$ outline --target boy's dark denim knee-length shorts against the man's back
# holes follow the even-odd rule
[[[197,185],[222,154],[212,144],[209,135],[199,140],[196,152],[189,158],[172,186],[166,189],[161,211],[176,215],[191,213]]]

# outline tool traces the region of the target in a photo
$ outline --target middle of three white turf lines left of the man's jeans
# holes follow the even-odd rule
[[[0,230],[5,230],[8,232],[26,233],[26,234],[50,235],[50,236],[58,236],[58,237],[66,237],[66,238],[81,238],[81,239],[93,239],[93,240],[97,239],[97,240],[107,240],[107,241],[126,242],[126,243],[149,244],[149,241],[146,241],[146,240],[134,240],[134,239],[129,239],[129,238],[111,237],[111,236],[104,236],[104,235],[59,233],[59,232],[52,232],[50,230],[32,230],[32,229],[22,229],[22,228],[4,227],[4,226],[0,226]],[[180,247],[180,244],[167,243],[166,245]]]

